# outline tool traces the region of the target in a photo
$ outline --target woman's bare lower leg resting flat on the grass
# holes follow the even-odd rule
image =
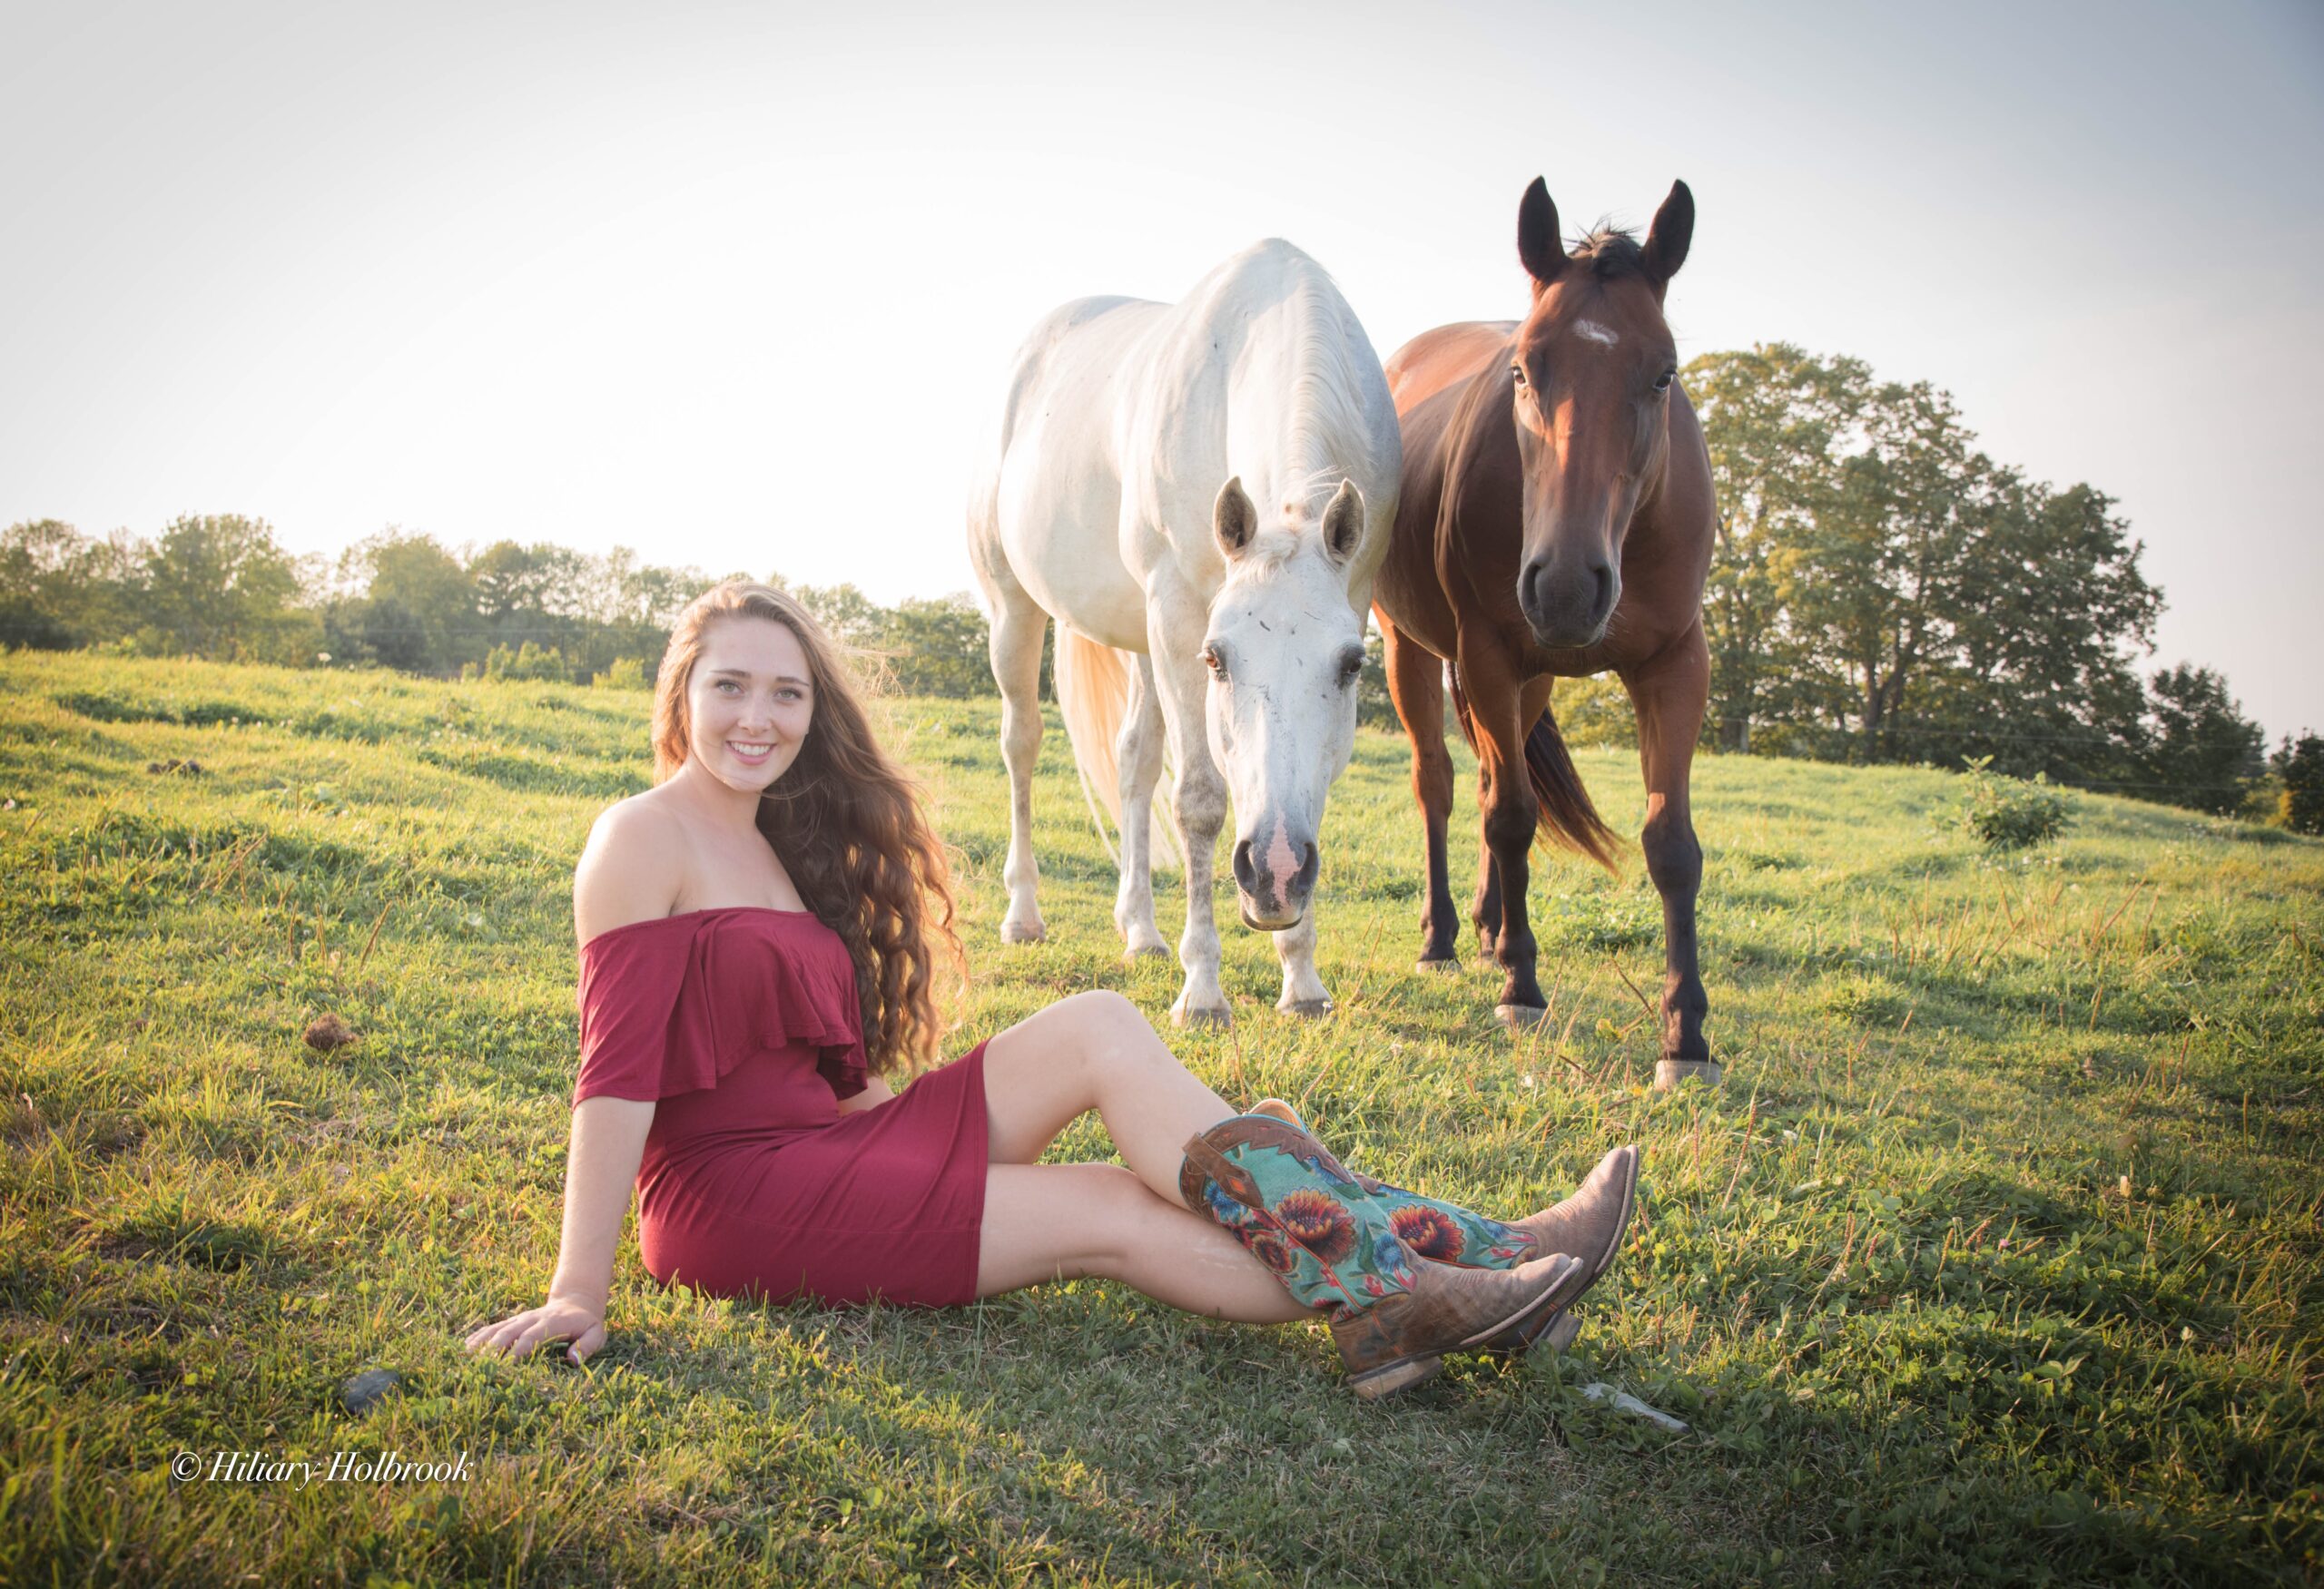
[[[990,1050],[985,1050],[990,1055]],[[1099,1275],[1241,1324],[1315,1317],[1243,1243],[1118,1164],[992,1164],[976,1294]]]

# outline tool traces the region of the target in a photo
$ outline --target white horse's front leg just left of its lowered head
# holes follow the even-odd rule
[[[1229,1024],[1227,992],[1218,985],[1218,922],[1211,918],[1211,867],[1218,829],[1227,825],[1227,781],[1211,762],[1204,718],[1208,688],[1202,667],[1202,634],[1208,611],[1192,592],[1155,583],[1146,595],[1146,648],[1162,697],[1169,743],[1178,750],[1178,841],[1185,846],[1185,934],[1178,964],[1185,985],[1169,1018],[1181,1024]]]

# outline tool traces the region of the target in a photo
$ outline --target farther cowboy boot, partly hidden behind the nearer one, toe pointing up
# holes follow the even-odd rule
[[[1264,1099],[1253,1113],[1306,1129],[1283,1099]],[[1638,1148],[1611,1150],[1573,1196],[1515,1222],[1487,1220],[1459,1203],[1406,1192],[1362,1171],[1355,1173],[1355,1180],[1387,1203],[1397,1236],[1425,1259],[1462,1268],[1508,1268],[1543,1252],[1569,1252],[1585,1264],[1587,1278],[1580,1292],[1587,1292],[1613,1264],[1622,1231],[1629,1227],[1638,1192]],[[1580,1324],[1571,1317],[1538,1317],[1522,1331],[1494,1338],[1485,1350],[1525,1352],[1536,1340],[1548,1338],[1550,1350],[1562,1352],[1578,1331]]]

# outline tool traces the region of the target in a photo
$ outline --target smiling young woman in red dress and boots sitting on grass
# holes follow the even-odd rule
[[[1253,1324],[1327,1315],[1360,1394],[1452,1350],[1525,1350],[1613,1259],[1636,1185],[1501,1224],[1355,1175],[1281,1103],[1239,1115],[1120,994],[1062,999],[902,1094],[953,957],[944,850],[790,597],[727,583],[679,618],[655,788],[574,871],[581,1076],[548,1299],[467,1336],[604,1345],[632,1182],[660,1282],[951,1306],[1104,1275]],[[1095,1108],[1113,1164],[1037,1164]]]

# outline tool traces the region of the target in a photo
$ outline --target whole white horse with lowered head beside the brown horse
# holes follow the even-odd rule
[[[1371,578],[1404,448],[1380,360],[1332,276],[1253,244],[1181,304],[1083,297],[1018,348],[997,451],[969,499],[1009,762],[1004,943],[1043,936],[1032,774],[1041,634],[1085,788],[1120,834],[1113,925],[1169,952],[1150,883],[1164,734],[1185,843],[1178,1024],[1227,1022],[1211,860],[1234,794],[1243,925],[1274,932],[1276,1008],[1332,1008],[1315,976],[1325,794],[1355,748]],[[1118,736],[1116,736],[1118,734]]]

